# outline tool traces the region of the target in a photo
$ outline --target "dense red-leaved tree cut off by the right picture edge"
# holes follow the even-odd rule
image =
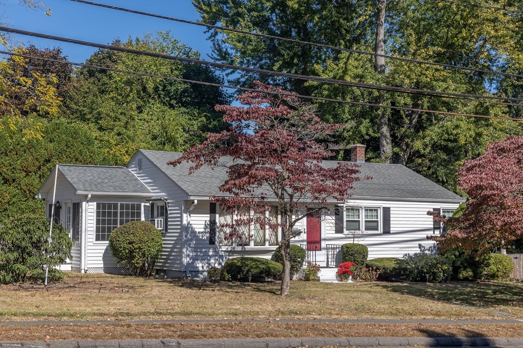
[[[469,196],[460,217],[442,221],[448,232],[431,238],[440,249],[453,247],[487,251],[523,237],[523,135],[490,143],[484,154],[466,161],[458,184]]]

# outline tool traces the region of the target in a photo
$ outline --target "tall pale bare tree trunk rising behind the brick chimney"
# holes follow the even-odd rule
[[[378,8],[376,10],[376,54],[385,54],[383,48],[383,38],[385,34],[385,4],[386,0],[378,0]],[[374,70],[378,75],[385,74],[385,57],[376,56],[376,61],[374,62]],[[380,91],[378,94],[378,104],[383,103],[384,94],[383,91]],[[389,129],[389,116],[385,113],[383,107],[378,111],[378,132],[380,134],[380,159],[389,163],[392,156],[392,140]]]

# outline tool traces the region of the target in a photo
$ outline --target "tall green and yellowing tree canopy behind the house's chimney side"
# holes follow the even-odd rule
[[[489,5],[486,1],[476,2]],[[374,52],[378,2],[194,0],[202,21],[286,38]],[[301,5],[301,6],[300,6]],[[496,6],[520,7],[520,0]],[[289,14],[289,15],[288,15]],[[385,17],[385,54],[422,61],[469,66],[521,74],[523,28],[520,17],[505,11],[445,1],[388,2]],[[301,29],[300,29],[301,28]],[[306,29],[306,30],[305,30]],[[306,33],[306,34],[304,34]],[[520,97],[521,79],[500,77],[431,65],[385,59],[386,74],[374,70],[368,55],[253,38],[246,34],[212,31],[214,56],[219,61],[340,80],[425,90]],[[301,51],[300,51],[301,50]],[[493,116],[517,116],[521,108],[449,98],[385,92],[262,77],[288,85],[299,93],[360,102]],[[252,76],[234,82],[251,84]],[[339,138],[350,145],[364,142],[371,161],[401,163],[449,189],[457,191],[456,173],[464,159],[483,153],[486,143],[519,134],[521,125],[435,115],[416,111],[385,110],[392,138],[390,158],[380,158],[379,109],[317,102],[320,117],[354,127]],[[349,153],[340,152],[340,159]]]

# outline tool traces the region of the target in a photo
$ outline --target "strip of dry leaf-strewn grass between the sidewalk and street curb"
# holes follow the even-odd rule
[[[278,337],[520,337],[523,324],[165,323],[0,325],[0,341]]]

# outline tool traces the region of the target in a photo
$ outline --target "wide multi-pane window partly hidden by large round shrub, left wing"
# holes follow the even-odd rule
[[[106,242],[116,227],[139,220],[142,220],[141,203],[96,203],[95,241]]]

